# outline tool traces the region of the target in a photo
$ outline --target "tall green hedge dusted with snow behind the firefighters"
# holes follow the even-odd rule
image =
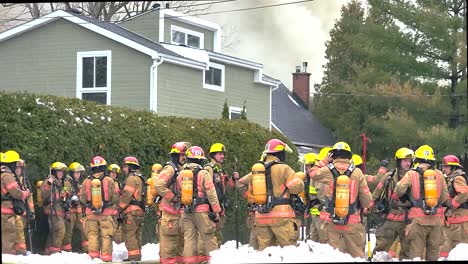
[[[206,154],[211,144],[226,146],[226,170],[234,171],[234,157],[241,175],[249,172],[260,157],[265,142],[280,138],[294,147],[284,136],[245,120],[212,120],[158,116],[148,111],[97,105],[93,102],[29,93],[0,92],[0,150],[16,150],[26,160],[26,173],[34,185],[49,173],[55,161],[67,165],[78,161],[88,165],[95,155],[103,156],[108,164],[121,164],[125,156],[139,159],[145,176],[151,165],[168,160],[170,146],[176,141],[188,141],[201,146]],[[297,150],[288,154],[287,162],[299,169]],[[122,175],[120,177],[123,177]],[[234,192],[228,193],[232,207],[224,240],[234,239]],[[240,236],[248,241],[245,224],[246,202],[239,195]],[[40,218],[40,215],[38,215]],[[43,219],[43,218],[42,218]],[[45,241],[47,222],[37,228],[36,241]],[[154,213],[146,215],[144,243],[157,242],[154,235]],[[77,239],[74,239],[76,246]],[[43,247],[43,243],[38,243]]]

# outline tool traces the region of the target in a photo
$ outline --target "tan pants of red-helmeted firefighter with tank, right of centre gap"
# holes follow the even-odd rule
[[[295,219],[284,219],[280,225],[255,227],[258,238],[258,250],[280,245],[281,247],[296,245],[299,239],[299,225]]]

